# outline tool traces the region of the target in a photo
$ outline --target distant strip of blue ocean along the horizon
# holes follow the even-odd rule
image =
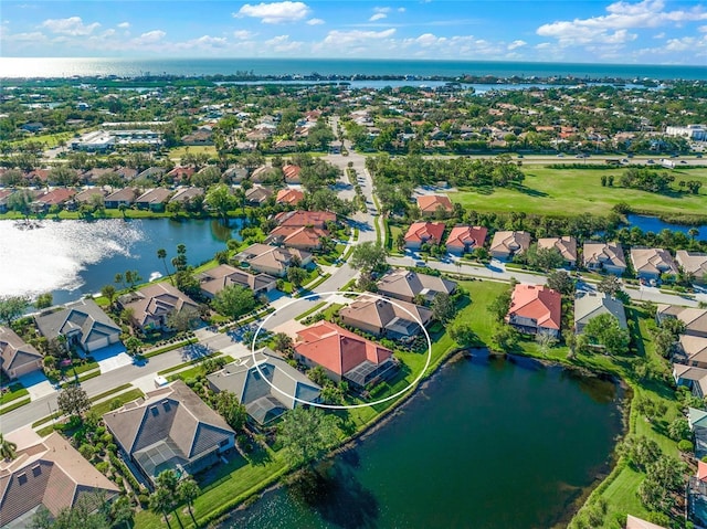
[[[483,61],[399,61],[336,59],[20,59],[0,57],[0,78],[116,75],[493,75],[509,77],[707,80],[707,66],[572,64]]]

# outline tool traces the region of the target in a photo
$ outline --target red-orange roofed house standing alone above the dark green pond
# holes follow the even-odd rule
[[[562,296],[546,286],[516,285],[505,319],[520,332],[547,332],[557,338],[562,321]]]

